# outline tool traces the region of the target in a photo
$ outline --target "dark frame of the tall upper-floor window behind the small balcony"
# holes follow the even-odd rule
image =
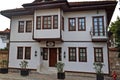
[[[94,22],[94,19],[97,19],[97,31],[98,33],[95,32],[95,22]],[[102,35],[100,35],[100,21],[99,21],[99,18],[102,18]],[[96,36],[95,34],[97,34],[97,36],[105,36],[105,27],[104,27],[104,16],[93,16],[93,35]]]

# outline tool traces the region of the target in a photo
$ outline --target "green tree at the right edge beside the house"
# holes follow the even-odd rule
[[[117,20],[113,23],[111,23],[110,26],[110,32],[112,32],[115,35],[115,44],[119,51],[119,57],[120,57],[120,18],[117,17]]]

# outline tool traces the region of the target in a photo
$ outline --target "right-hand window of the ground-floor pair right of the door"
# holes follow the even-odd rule
[[[79,48],[79,61],[87,62],[87,50],[86,48]]]

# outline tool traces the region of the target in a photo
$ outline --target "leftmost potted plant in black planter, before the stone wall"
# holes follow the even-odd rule
[[[0,61],[0,73],[6,74],[8,73],[8,61],[2,60]]]

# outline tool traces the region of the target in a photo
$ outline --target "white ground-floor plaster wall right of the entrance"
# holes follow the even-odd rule
[[[76,47],[77,48],[77,61],[70,62],[69,61],[69,53],[68,47]],[[87,62],[79,62],[78,58],[78,48],[79,47],[87,47]],[[103,47],[103,60],[105,66],[103,67],[104,73],[109,73],[108,68],[108,52],[107,52],[107,44],[106,43],[91,43],[91,42],[64,42],[62,47],[62,53],[66,52],[66,58],[63,58],[63,62],[65,63],[66,71],[76,71],[76,72],[92,72],[94,73],[94,47]],[[63,54],[64,55],[64,54]],[[62,56],[63,57],[63,56]]]

